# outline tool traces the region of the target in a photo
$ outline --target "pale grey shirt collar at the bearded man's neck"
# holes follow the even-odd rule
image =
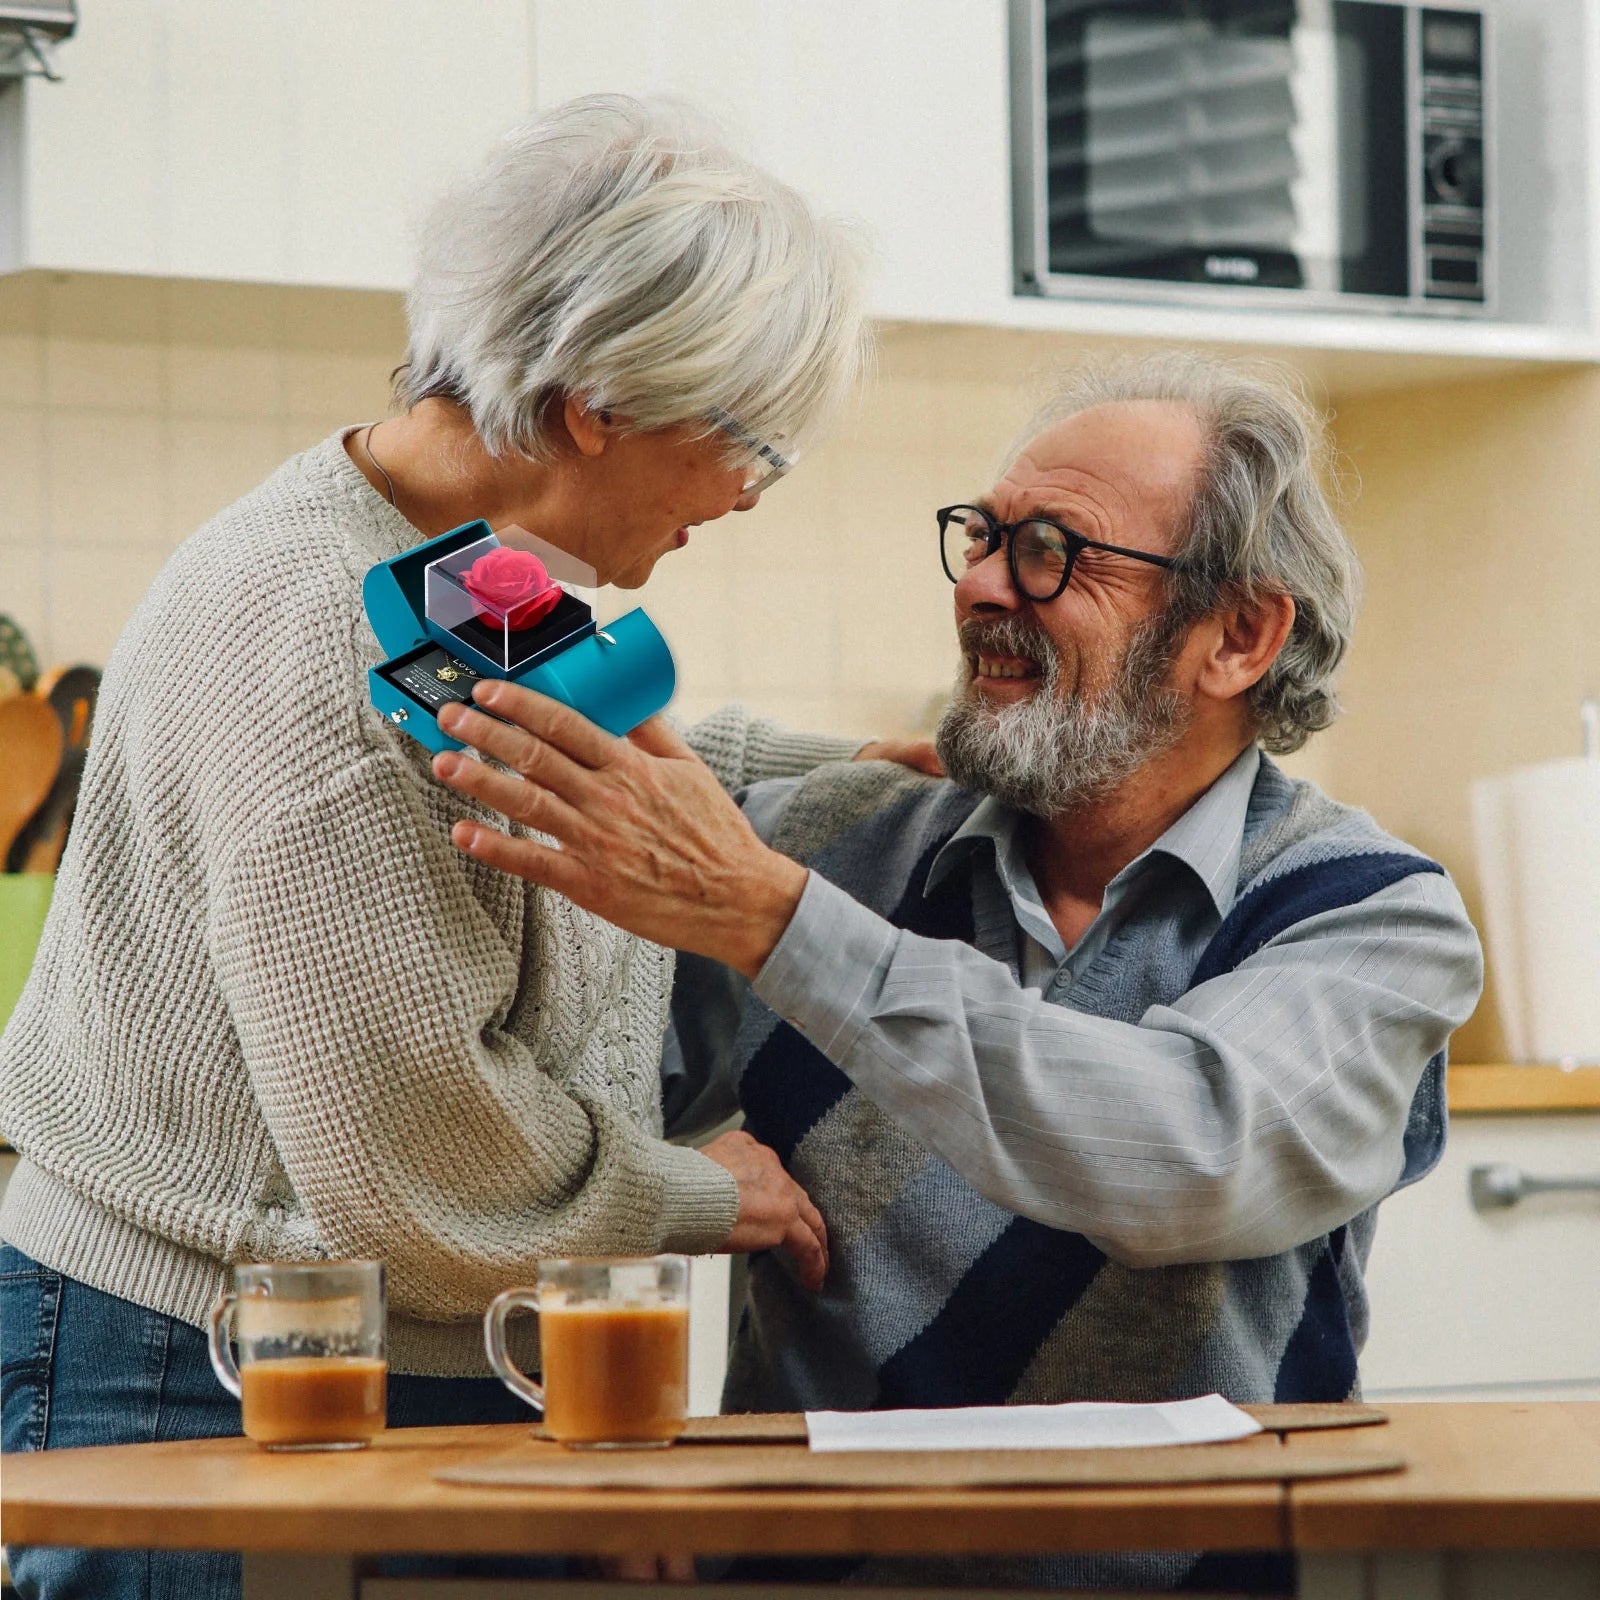
[[[1261,749],[1250,744],[1238,758],[1211,784],[1210,789],[1149,850],[1128,862],[1112,878],[1112,885],[1125,883],[1154,854],[1182,861],[1205,885],[1219,917],[1226,917],[1238,893],[1238,858],[1245,843],[1245,814],[1250,795],[1261,771]],[[1013,901],[1018,898],[1018,877],[1032,885],[1021,858],[1016,837],[1021,813],[986,795],[966,821],[946,840],[933,858],[923,893],[931,894],[954,870],[989,840],[995,853],[995,869]]]

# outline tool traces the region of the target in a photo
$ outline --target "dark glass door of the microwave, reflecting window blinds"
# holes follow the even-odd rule
[[[1045,0],[1050,272],[1406,294],[1403,38],[1368,0]]]

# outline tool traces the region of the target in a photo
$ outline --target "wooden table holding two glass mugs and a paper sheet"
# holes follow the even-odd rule
[[[246,1600],[424,1592],[403,1579],[363,1578],[362,1558],[379,1552],[685,1547],[1293,1549],[1304,1600],[1566,1600],[1600,1592],[1600,1405],[1429,1403],[1389,1413],[1376,1429],[1269,1432],[1230,1448],[1286,1462],[1301,1450],[1381,1446],[1406,1458],[1400,1474],[1158,1488],[640,1493],[435,1482],[440,1467],[526,1448],[528,1430],[515,1427],[403,1430],[339,1456],[272,1456],[245,1440],[62,1450],[5,1458],[3,1531],[16,1544],[238,1549],[246,1552]],[[437,1579],[426,1587],[427,1595],[450,1592],[490,1600],[514,1589],[454,1589]],[[555,1589],[530,1584],[526,1592]]]

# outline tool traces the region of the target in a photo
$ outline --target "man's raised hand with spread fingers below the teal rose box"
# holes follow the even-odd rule
[[[491,867],[557,890],[606,922],[754,978],[805,891],[805,867],[768,850],[709,766],[659,717],[614,739],[558,701],[504,680],[446,706],[453,739],[510,768],[434,757],[434,774],[531,838],[458,822],[456,845]]]

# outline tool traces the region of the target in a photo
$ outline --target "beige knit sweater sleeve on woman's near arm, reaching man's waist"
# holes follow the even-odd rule
[[[323,1242],[387,1261],[394,1302],[432,1318],[480,1310],[541,1256],[715,1246],[730,1174],[506,1032],[518,952],[419,781],[390,750],[330,774],[234,854],[214,901],[245,1070]]]

